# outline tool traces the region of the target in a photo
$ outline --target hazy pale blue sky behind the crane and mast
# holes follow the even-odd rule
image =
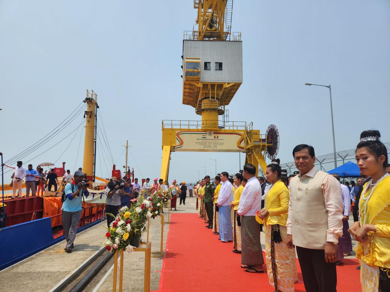
[[[196,10],[192,0],[147,3],[153,5],[0,1],[5,160],[53,130],[93,89],[113,160],[124,165],[122,145],[129,140],[136,176],[160,176],[161,120],[200,120],[181,104],[180,77],[183,30],[192,30]],[[312,144],[317,155],[333,151],[329,91],[305,83],[332,85],[337,151],[354,148],[360,132],[371,128],[390,141],[388,0],[234,1],[232,31],[242,32],[244,81],[228,107],[230,121],[253,121],[262,134],[277,125],[282,163],[293,160],[300,143]],[[78,114],[23,161],[48,150],[31,163],[82,166],[81,128],[72,132],[82,120]],[[112,159],[104,166],[101,153],[96,174],[107,176]],[[239,170],[238,153],[173,153],[169,181],[195,181],[197,170],[204,176],[202,166],[215,175],[210,158],[218,172]]]

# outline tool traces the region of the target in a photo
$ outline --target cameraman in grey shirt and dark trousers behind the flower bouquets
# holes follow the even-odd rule
[[[119,208],[121,206],[121,196],[124,195],[124,181],[122,179],[117,180],[116,176],[110,179],[105,190],[106,193],[106,213],[111,213],[115,217],[118,215]],[[107,215],[107,226],[110,228],[111,222],[115,220],[114,217]]]

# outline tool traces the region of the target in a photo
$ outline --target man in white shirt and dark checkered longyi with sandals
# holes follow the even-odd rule
[[[240,197],[237,214],[241,217],[241,264],[248,273],[264,273],[263,253],[260,242],[260,224],[256,212],[261,210],[261,185],[256,167],[245,164],[243,176],[248,180]]]

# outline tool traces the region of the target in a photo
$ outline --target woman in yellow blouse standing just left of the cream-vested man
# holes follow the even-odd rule
[[[293,292],[298,274],[295,250],[286,245],[290,195],[285,184],[280,181],[282,169],[279,164],[279,159],[273,159],[267,166],[266,177],[272,185],[258,216],[264,221],[265,227],[269,284],[275,291]]]

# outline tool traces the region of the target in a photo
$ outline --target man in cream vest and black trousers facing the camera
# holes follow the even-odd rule
[[[293,157],[300,174],[290,181],[287,246],[296,246],[306,291],[336,292],[343,218],[340,183],[314,166],[312,146],[296,146]]]

